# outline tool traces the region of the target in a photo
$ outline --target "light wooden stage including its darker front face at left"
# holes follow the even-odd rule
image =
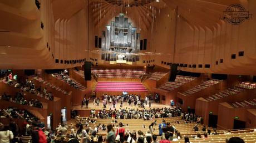
[[[124,104],[122,105],[122,108],[120,108],[120,102],[119,102],[119,103],[116,104],[116,108],[113,108],[112,104],[107,104],[106,110],[110,110],[110,109],[119,110],[119,109],[126,109],[126,108],[130,108],[130,109],[133,108],[133,109],[140,109],[140,110],[144,109],[144,108],[140,108],[139,106],[134,106],[134,105],[129,106],[129,104],[127,102],[124,102]],[[149,108],[148,104],[145,105],[145,109],[147,109],[147,110],[153,109],[153,108],[155,108],[155,109],[157,109],[157,108],[170,108],[170,106],[169,105],[164,105],[164,104],[159,104],[159,103],[152,103],[151,108]],[[89,116],[90,111],[92,109],[95,109],[96,113],[99,110],[103,110],[104,108],[103,108],[102,100],[100,101],[99,106],[97,106],[96,104],[93,105],[93,103],[90,102],[87,109],[85,108],[85,106],[83,106],[83,108],[81,108],[81,105],[73,106],[73,108],[72,108],[72,110],[77,110],[77,113],[80,116]]]

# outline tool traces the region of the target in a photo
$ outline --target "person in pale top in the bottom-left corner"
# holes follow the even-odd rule
[[[2,122],[0,122],[0,142],[11,142],[13,139],[12,131],[8,130],[8,126],[4,126]]]

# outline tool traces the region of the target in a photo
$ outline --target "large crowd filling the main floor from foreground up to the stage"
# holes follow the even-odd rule
[[[104,110],[102,110],[103,112]],[[126,113],[152,113],[152,114],[160,114],[159,118],[169,118],[173,116],[181,116],[182,119],[185,121],[193,121],[200,124],[200,117],[196,116],[195,114],[183,113],[180,108],[163,108],[163,109],[152,109],[151,110],[135,110],[135,109],[120,109],[120,110],[112,110],[113,112],[126,114]],[[163,120],[159,125],[157,125],[156,121],[152,121],[152,123],[148,126],[146,132],[142,132],[141,130],[137,131],[130,131],[126,130],[127,125],[123,125],[122,122],[118,122],[115,119],[122,119],[117,118],[117,116],[109,116],[109,118],[113,119],[110,124],[100,124],[97,123],[95,118],[99,116],[103,116],[103,113],[98,113],[95,116],[91,116],[90,118],[80,118],[77,116],[76,124],[65,124],[64,122],[60,123],[55,130],[46,129],[45,125],[38,121],[37,119],[31,119],[29,113],[24,110],[18,110],[15,108],[8,108],[4,110],[3,114],[8,113],[9,116],[12,118],[18,118],[22,116],[24,120],[24,135],[29,135],[32,137],[32,142],[38,142],[38,140],[45,140],[45,142],[83,142],[83,143],[92,143],[92,142],[126,142],[126,143],[169,143],[171,141],[176,141],[179,139],[184,139],[185,142],[189,142],[189,137],[183,136],[180,132],[175,128],[175,126],[171,125],[170,122],[166,122]],[[106,111],[106,113],[108,113]],[[110,114],[110,113],[109,113]],[[135,114],[134,114],[135,115]],[[2,116],[2,115],[1,115]],[[196,117],[196,119],[195,119]],[[125,119],[125,118],[124,118]],[[129,119],[129,118],[127,118]],[[131,118],[130,118],[131,119]],[[136,118],[134,118],[136,119]],[[137,118],[139,119],[139,118]],[[142,119],[142,118],[141,118]],[[90,126],[90,124],[93,124]],[[178,122],[179,124],[179,122]],[[3,124],[0,123],[0,140],[15,140],[16,142],[19,141],[19,132],[18,125],[13,121],[10,120],[9,126],[2,127]],[[94,126],[94,128],[92,127]],[[126,126],[126,127],[125,127]],[[147,126],[147,125],[146,125]],[[153,132],[155,130],[154,126],[158,126],[159,135],[155,135]],[[145,128],[145,126],[144,126]],[[71,133],[68,132],[68,129],[71,129]],[[107,135],[102,136],[97,134],[99,130],[106,130]],[[198,126],[193,128],[194,131],[198,131]],[[218,132],[214,130],[213,132],[210,129],[203,126],[200,130],[204,131],[203,135],[197,134],[194,138],[209,138],[208,135],[216,135]],[[8,132],[8,134],[1,135],[1,131]],[[67,133],[68,132],[68,133]],[[231,134],[227,132],[225,134]],[[1,138],[2,137],[2,138]],[[232,138],[229,139],[230,141],[233,140]]]

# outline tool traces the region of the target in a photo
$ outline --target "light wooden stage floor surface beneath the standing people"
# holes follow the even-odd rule
[[[134,105],[131,106],[131,105],[129,105],[126,102],[124,102],[124,104],[122,105],[121,109],[124,109],[124,108],[143,109],[143,108],[139,108],[139,106],[134,106]],[[157,109],[157,108],[170,108],[170,106],[169,105],[164,105],[164,104],[159,104],[159,103],[152,103],[151,104],[151,109],[153,109],[153,108],[155,108],[155,109]],[[85,108],[85,106],[83,106],[83,108],[81,108],[81,105],[73,106],[73,110],[91,110],[91,109],[102,110],[103,109],[102,101],[101,101],[99,106],[97,106],[96,104],[93,105],[93,103],[90,102],[87,109]],[[110,110],[110,109],[112,109],[112,110],[114,110],[114,109],[119,110],[120,109],[120,103],[116,104],[116,108],[113,108],[112,104],[107,104],[107,108],[106,109],[107,110]],[[145,109],[150,109],[148,104],[145,105]]]

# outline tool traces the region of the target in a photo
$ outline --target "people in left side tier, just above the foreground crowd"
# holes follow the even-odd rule
[[[37,99],[27,100],[26,98],[24,98],[23,95],[24,93],[22,91],[19,91],[18,93],[16,93],[16,96],[13,99],[11,95],[4,93],[2,96],[0,96],[0,99],[21,104],[21,105],[28,105],[28,106],[34,106],[36,108],[43,108],[43,105],[39,100]]]

